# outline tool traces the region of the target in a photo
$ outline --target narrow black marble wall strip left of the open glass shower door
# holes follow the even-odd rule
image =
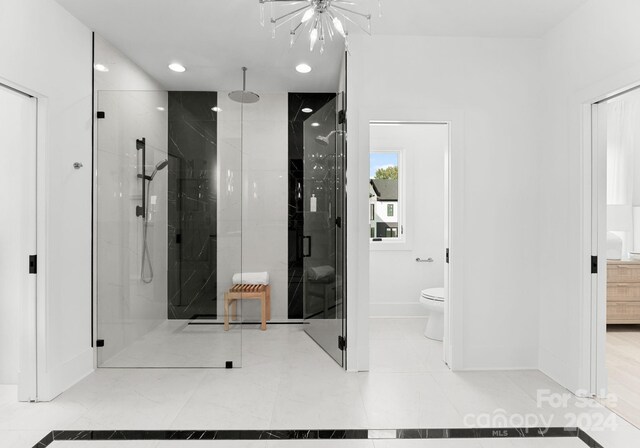
[[[304,121],[333,98],[335,93],[289,93],[289,319],[302,319],[302,237],[304,233]]]

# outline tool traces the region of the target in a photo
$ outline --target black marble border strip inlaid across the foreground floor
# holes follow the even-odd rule
[[[394,439],[519,439],[579,438],[590,448],[604,448],[577,428],[453,428],[453,429],[335,429],[224,431],[51,431],[34,448],[70,440],[394,440]]]

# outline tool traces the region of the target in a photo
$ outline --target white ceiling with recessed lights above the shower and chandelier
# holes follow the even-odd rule
[[[57,0],[171,90],[235,90],[240,67],[258,92],[334,91],[341,43],[310,53],[289,49],[288,26],[271,38],[258,0]],[[374,34],[539,37],[586,0],[359,0],[374,13]],[[180,62],[187,72],[167,69]],[[97,61],[100,62],[100,61]],[[313,67],[300,75],[294,67]]]

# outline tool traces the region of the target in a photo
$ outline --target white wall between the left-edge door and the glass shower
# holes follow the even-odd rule
[[[38,385],[49,400],[92,369],[91,32],[53,0],[4,0],[0,54],[2,82],[40,99]]]

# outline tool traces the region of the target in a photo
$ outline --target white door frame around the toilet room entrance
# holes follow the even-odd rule
[[[446,271],[445,288],[448,286],[448,300],[445,302],[445,335],[443,341],[443,359],[451,370],[462,370],[463,354],[463,314],[464,300],[464,113],[451,109],[361,109],[357,112],[358,132],[350,133],[349,144],[357,148],[357,166],[350,159],[347,171],[347,187],[350,197],[358,194],[357,202],[357,230],[353,230],[350,238],[350,248],[357,250],[357,278],[350,277],[349,285],[357,288],[357,306],[351,301],[352,312],[348,313],[348,326],[357,328],[356,344],[348,345],[347,350],[353,350],[351,359],[357,359],[357,366],[349,366],[349,370],[369,370],[369,153],[371,122],[401,122],[424,124],[447,124],[449,126],[449,152],[447,163],[448,185],[448,239],[450,263]],[[355,142],[354,142],[355,140]],[[357,182],[357,190],[351,186]],[[352,226],[353,227],[353,226]],[[365,231],[366,230],[366,231]],[[357,244],[354,240],[357,239]],[[353,249],[357,245],[356,249]],[[351,252],[353,254],[353,252]],[[351,262],[351,259],[349,259]],[[354,272],[350,270],[349,272]],[[354,297],[355,294],[350,295]],[[417,301],[417,298],[416,298]],[[350,333],[353,335],[353,332]],[[353,336],[351,336],[353,339]],[[354,347],[355,345],[355,347]]]

